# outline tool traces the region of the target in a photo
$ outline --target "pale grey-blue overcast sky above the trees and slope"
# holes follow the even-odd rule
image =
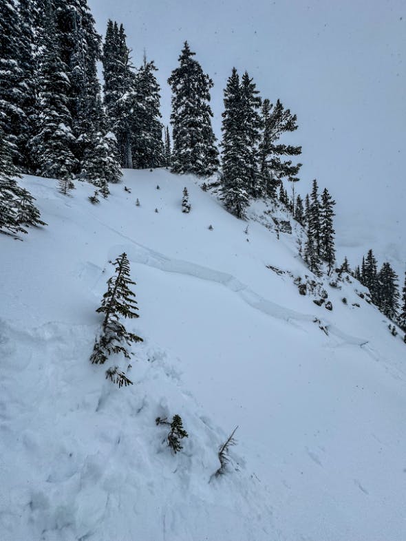
[[[301,191],[312,178],[331,190],[343,251],[355,257],[361,246],[376,247],[380,259],[403,270],[405,0],[89,0],[89,5],[100,33],[108,18],[125,25],[136,65],[144,48],[156,61],[165,122],[166,81],[185,39],[215,83],[217,136],[226,78],[233,65],[248,70],[261,96],[280,98],[297,114]],[[385,236],[390,238],[383,242]]]

